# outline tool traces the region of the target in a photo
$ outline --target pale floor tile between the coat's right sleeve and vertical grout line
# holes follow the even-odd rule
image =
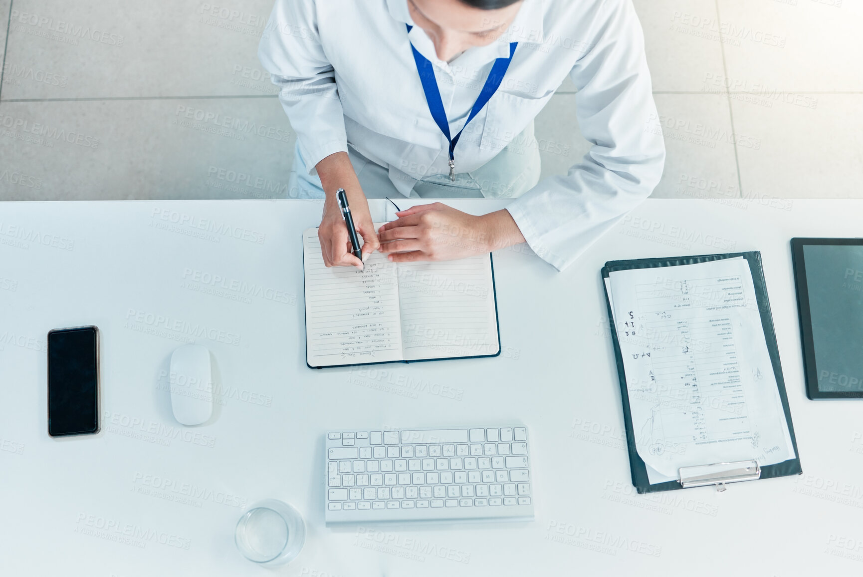
[[[665,137],[665,172],[652,196],[737,198],[734,136],[728,98],[714,94],[657,94]],[[742,142],[740,136],[738,141]]]

